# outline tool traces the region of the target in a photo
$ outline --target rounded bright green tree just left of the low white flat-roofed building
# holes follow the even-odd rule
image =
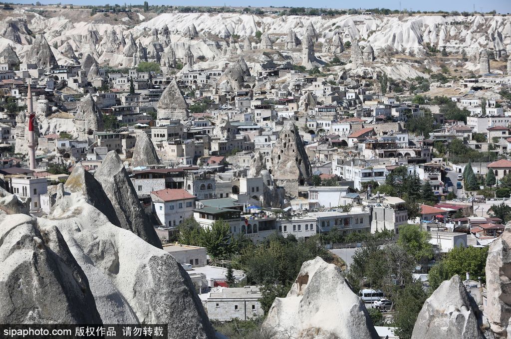
[[[433,246],[429,243],[431,236],[419,225],[402,225],[399,227],[398,244],[415,257],[417,261],[433,257]]]

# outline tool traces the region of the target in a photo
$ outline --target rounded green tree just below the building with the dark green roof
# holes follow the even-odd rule
[[[201,244],[213,258],[226,258],[234,253],[230,226],[223,220],[216,220],[201,234]]]

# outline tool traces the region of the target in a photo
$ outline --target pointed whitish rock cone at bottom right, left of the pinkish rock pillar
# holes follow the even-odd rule
[[[411,339],[484,339],[481,313],[458,275],[446,280],[426,300]]]

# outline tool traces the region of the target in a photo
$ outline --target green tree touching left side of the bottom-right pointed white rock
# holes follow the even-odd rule
[[[396,298],[397,314],[394,316],[394,325],[398,328],[394,333],[400,339],[411,338],[417,316],[419,316],[426,299],[427,295],[422,288],[421,281],[409,283],[398,292]]]

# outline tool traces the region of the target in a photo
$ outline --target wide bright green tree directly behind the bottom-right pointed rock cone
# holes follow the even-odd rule
[[[446,253],[429,271],[429,286],[432,293],[444,280],[449,280],[454,275],[459,275],[463,280],[466,272],[472,279],[481,278],[486,281],[486,257],[487,247],[462,247],[458,246]]]

